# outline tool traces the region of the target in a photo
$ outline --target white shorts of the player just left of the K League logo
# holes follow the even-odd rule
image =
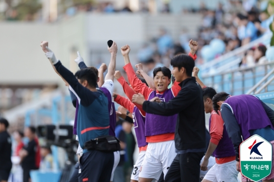
[[[215,164],[206,173],[204,179],[211,182],[238,182],[238,171],[236,169],[236,161],[223,164]]]

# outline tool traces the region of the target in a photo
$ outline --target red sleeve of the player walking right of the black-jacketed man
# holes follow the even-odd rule
[[[219,114],[220,115],[213,112],[210,116],[210,142],[214,143],[215,145],[218,145],[218,143],[222,139],[224,130],[224,121],[221,117],[221,112],[219,112]]]

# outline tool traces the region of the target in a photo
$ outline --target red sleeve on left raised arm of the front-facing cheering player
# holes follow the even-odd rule
[[[152,88],[149,88],[148,86],[146,86],[145,83],[143,83],[142,81],[140,81],[140,79],[137,78],[137,76],[134,72],[134,69],[130,63],[126,64],[123,68],[127,73],[127,76],[128,76],[128,79],[129,79],[129,82],[130,82],[132,88],[137,93],[144,95],[145,100],[148,100],[149,94],[154,90]]]

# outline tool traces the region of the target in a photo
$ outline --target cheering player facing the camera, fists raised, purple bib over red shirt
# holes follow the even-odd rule
[[[198,43],[190,40],[189,46],[191,48],[189,56],[195,61],[197,58],[195,52],[197,51]],[[153,75],[156,90],[142,83],[137,78],[130,63],[129,52],[129,45],[121,48],[121,53],[125,61],[123,68],[127,73],[132,88],[137,93],[144,95],[145,100],[152,100],[155,97],[159,97],[160,101],[165,102],[178,95],[181,90],[179,82],[175,82],[174,85],[168,89],[168,85],[171,82],[171,71],[166,67],[154,69]],[[164,176],[167,173],[176,156],[174,143],[176,120],[177,114],[172,116],[146,114],[145,136],[148,147],[140,169],[139,182],[152,182],[154,179],[159,180],[162,171]]]

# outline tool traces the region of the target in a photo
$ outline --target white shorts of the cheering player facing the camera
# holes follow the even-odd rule
[[[174,140],[148,143],[139,177],[159,180],[162,172],[166,175],[176,155]]]

